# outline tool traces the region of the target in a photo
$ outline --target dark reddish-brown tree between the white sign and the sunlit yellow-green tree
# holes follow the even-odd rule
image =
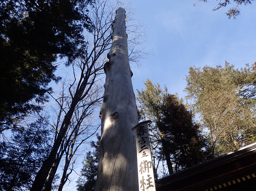
[[[206,161],[206,140],[201,135],[200,127],[193,123],[192,112],[187,110],[183,100],[176,95],[167,95],[161,110],[162,117],[156,125],[164,134],[162,144],[166,145],[166,152],[175,161],[174,171]]]

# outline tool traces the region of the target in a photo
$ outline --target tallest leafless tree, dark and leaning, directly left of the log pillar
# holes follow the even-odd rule
[[[85,55],[73,62],[73,78],[69,84],[62,85],[59,95],[50,94],[52,100],[58,105],[54,115],[56,117],[52,123],[49,122],[55,134],[50,154],[38,171],[31,191],[42,189],[50,191],[57,167],[62,157],[65,157],[59,186],[59,191],[62,190],[69,174],[73,171],[72,165],[75,160],[72,158],[75,152],[96,132],[97,127],[92,128],[92,121],[89,119],[94,115],[95,107],[102,99],[103,68],[108,60],[107,53],[111,48],[112,40],[111,23],[115,18],[115,10],[119,6],[124,4],[108,0],[96,0],[94,4],[89,5],[89,17],[94,24],[94,30],[92,33],[85,34],[88,41],[87,47],[84,47]],[[133,19],[133,17],[128,16],[127,19]],[[137,45],[144,43],[144,39],[141,38],[144,33],[139,32],[138,27],[141,26],[134,24],[127,26],[130,61],[137,64],[144,55],[143,50],[137,49]]]

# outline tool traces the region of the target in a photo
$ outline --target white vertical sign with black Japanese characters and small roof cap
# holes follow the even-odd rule
[[[137,163],[140,191],[156,191],[147,125],[147,123],[150,122],[150,120],[143,121],[131,129],[136,129]]]

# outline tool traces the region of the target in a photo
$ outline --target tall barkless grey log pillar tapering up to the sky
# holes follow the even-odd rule
[[[112,47],[104,65],[100,158],[95,191],[138,191],[135,132],[138,115],[131,82],[125,9],[118,8],[112,23]]]

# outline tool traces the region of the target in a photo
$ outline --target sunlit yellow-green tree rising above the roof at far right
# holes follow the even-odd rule
[[[216,157],[256,141],[254,66],[191,67],[186,76],[187,99],[208,134]]]

